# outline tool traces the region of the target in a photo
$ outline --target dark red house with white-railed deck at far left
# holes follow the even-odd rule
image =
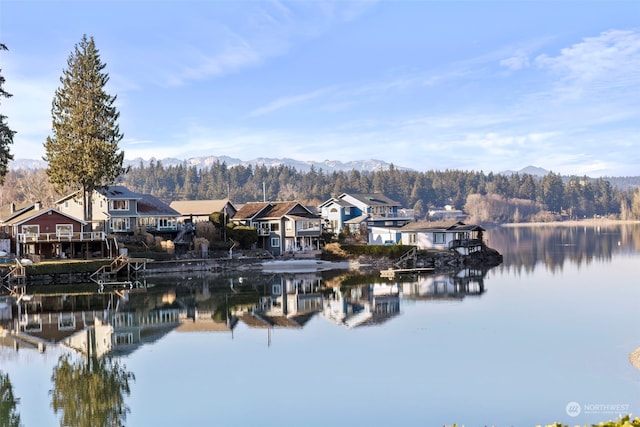
[[[101,231],[85,232],[86,223],[57,209],[34,203],[2,221],[11,251],[17,256],[77,258],[104,256],[110,242]]]

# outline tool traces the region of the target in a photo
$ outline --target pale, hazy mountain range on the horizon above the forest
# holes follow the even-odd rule
[[[125,160],[126,166],[138,167],[141,164],[143,166],[148,166],[151,161],[160,162],[163,166],[178,166],[178,165],[187,165],[187,166],[196,166],[198,169],[209,167],[217,162],[225,163],[228,167],[232,166],[266,166],[267,168],[272,167],[280,167],[280,166],[288,166],[293,167],[299,172],[309,172],[313,167],[316,171],[322,169],[325,173],[338,172],[338,171],[352,171],[358,170],[361,172],[372,172],[378,170],[387,170],[391,166],[391,163],[384,162],[382,160],[356,160],[351,162],[340,162],[338,160],[325,160],[323,162],[316,161],[302,161],[295,159],[273,159],[267,157],[259,157],[253,160],[240,160],[235,159],[233,157],[227,156],[207,156],[207,157],[192,157],[186,160],[180,160],[175,158],[166,158],[166,159],[149,159],[144,160],[142,158],[136,158],[131,160]],[[394,168],[398,170],[411,170],[409,168],[396,166]]]

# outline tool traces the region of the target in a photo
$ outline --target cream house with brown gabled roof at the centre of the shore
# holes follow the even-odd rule
[[[249,202],[231,218],[258,232],[258,247],[274,256],[319,249],[320,217],[296,201]]]

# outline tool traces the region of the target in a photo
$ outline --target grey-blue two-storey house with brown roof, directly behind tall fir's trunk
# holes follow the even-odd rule
[[[61,211],[84,219],[82,194],[75,192],[55,202]],[[152,233],[177,231],[180,214],[150,194],[123,186],[96,189],[91,196],[91,229],[106,233],[133,233],[136,228]]]

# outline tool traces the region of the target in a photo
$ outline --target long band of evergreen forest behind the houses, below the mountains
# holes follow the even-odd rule
[[[640,189],[621,190],[603,178],[565,177],[549,172],[485,174],[482,171],[427,171],[396,169],[373,172],[325,173],[312,168],[227,167],[222,162],[198,168],[186,164],[164,166],[161,161],[142,163],[120,175],[115,184],[174,200],[223,199],[234,204],[249,201],[297,200],[317,206],[342,193],[381,192],[414,209],[417,219],[428,210],[451,205],[463,209],[477,222],[551,221],[561,218],[613,217],[640,219]],[[0,190],[2,206],[11,202],[40,201],[52,205],[58,194],[48,183],[45,170],[12,170]]]

